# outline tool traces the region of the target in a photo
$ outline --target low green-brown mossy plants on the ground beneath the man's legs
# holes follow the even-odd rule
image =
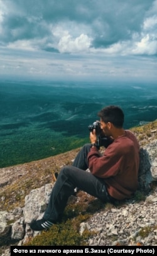
[[[41,231],[40,235],[29,240],[25,245],[87,245],[95,231],[84,230],[80,234],[80,223],[87,221],[92,213],[106,208],[99,199],[78,192],[80,201],[68,204],[63,214],[62,223],[51,226],[50,230]],[[107,204],[109,206],[109,204]],[[113,206],[112,206],[113,207]]]

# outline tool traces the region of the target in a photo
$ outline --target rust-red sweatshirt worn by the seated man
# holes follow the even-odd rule
[[[90,172],[104,179],[113,198],[131,198],[138,187],[139,169],[139,143],[131,131],[116,138],[102,157],[96,147],[91,148],[88,161]]]

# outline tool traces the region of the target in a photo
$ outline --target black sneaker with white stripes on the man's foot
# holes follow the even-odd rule
[[[30,223],[30,228],[31,230],[35,231],[41,231],[41,230],[46,230],[50,228],[53,225],[51,221],[41,219],[41,220],[33,220]]]

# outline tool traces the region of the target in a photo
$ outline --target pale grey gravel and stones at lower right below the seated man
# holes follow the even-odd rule
[[[126,201],[123,206],[95,213],[81,230],[97,231],[89,245],[157,246],[157,187],[140,203]]]

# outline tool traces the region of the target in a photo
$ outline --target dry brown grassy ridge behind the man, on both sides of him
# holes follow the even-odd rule
[[[130,129],[139,140],[140,147],[157,138],[157,120],[143,126]],[[13,206],[23,206],[24,197],[31,189],[36,189],[52,181],[54,172],[59,172],[63,165],[71,165],[80,148],[65,153],[36,160],[25,164],[3,167],[0,172],[0,211]],[[36,177],[36,179],[33,179]],[[18,188],[18,196],[16,189]],[[15,192],[13,192],[15,191]]]

